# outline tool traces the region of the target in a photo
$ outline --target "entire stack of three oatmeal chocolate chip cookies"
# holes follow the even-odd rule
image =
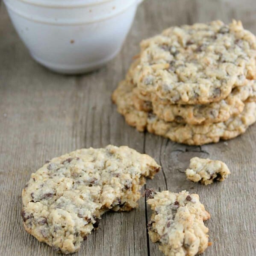
[[[240,21],[175,26],[141,42],[112,100],[139,131],[202,145],[256,121],[254,79],[256,37]]]

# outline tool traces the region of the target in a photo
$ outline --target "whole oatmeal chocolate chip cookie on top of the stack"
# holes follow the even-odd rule
[[[134,82],[173,104],[206,104],[256,79],[256,37],[240,21],[174,26],[141,42]]]

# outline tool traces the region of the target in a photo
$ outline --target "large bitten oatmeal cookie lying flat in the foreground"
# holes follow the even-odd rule
[[[62,253],[74,253],[112,209],[138,205],[145,178],[160,166],[129,147],[81,149],[53,158],[22,191],[25,230]]]

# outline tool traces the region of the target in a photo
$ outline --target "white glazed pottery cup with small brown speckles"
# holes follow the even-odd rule
[[[121,50],[142,0],[4,0],[31,56],[45,67],[78,74]]]

